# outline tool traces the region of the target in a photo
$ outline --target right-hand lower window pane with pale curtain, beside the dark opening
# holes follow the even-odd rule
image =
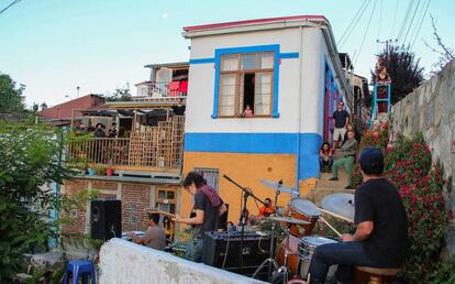
[[[268,116],[271,103],[271,72],[256,73],[255,79],[254,113]]]

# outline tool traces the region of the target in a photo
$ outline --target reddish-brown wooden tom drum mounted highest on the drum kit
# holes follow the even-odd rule
[[[310,236],[319,216],[321,216],[321,212],[312,201],[300,198],[292,198],[285,208],[284,214],[310,222],[309,225],[284,223],[286,227],[289,226],[289,232],[297,237]]]

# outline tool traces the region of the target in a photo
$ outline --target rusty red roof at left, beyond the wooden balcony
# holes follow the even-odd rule
[[[100,106],[103,103],[104,99],[102,97],[99,95],[89,94],[87,96],[38,111],[38,116],[44,120],[49,121],[66,120],[71,119],[71,117],[81,117],[82,113],[78,110],[91,109],[95,106]]]

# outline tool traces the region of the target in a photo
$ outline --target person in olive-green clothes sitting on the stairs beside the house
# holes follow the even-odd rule
[[[352,186],[352,177],[353,177],[353,165],[355,161],[355,155],[357,154],[358,143],[357,140],[354,139],[354,132],[347,132],[347,141],[341,148],[343,151],[343,157],[336,160],[332,166],[332,177],[330,181],[339,181],[339,166],[344,166],[347,173],[347,186],[345,189],[354,189]]]

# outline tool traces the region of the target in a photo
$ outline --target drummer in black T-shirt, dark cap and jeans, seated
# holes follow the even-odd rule
[[[358,160],[364,184],[355,192],[354,234],[314,250],[311,284],[324,283],[330,265],[339,264],[336,280],[352,283],[355,266],[400,267],[409,249],[408,221],[397,188],[382,176],[379,149],[366,148]]]

